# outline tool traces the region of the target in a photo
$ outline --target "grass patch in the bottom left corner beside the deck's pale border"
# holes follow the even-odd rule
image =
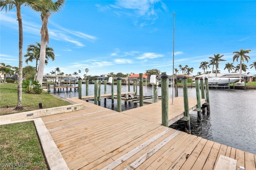
[[[33,121],[0,125],[2,170],[47,170]]]

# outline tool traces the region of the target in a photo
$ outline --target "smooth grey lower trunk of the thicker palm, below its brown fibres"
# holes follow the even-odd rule
[[[41,47],[40,47],[40,57],[39,57],[39,66],[38,66],[38,76],[37,80],[39,84],[42,84],[43,82],[43,76],[44,76],[44,64],[45,64],[45,54],[46,54],[46,32],[41,33]]]

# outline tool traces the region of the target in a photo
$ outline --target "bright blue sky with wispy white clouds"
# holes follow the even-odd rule
[[[25,55],[28,45],[40,43],[42,22],[28,7],[21,12]],[[16,8],[0,12],[0,63],[11,66],[18,66],[16,19]],[[174,68],[188,65],[193,75],[218,53],[227,60],[220,62],[221,73],[228,72],[224,67],[233,63],[234,51],[252,50],[248,68],[256,61],[256,1],[67,0],[49,18],[48,30],[55,61],[48,61],[44,73],[56,67],[64,74],[82,70],[80,76],[85,68],[92,76],[156,68],[172,75],[173,31]],[[255,68],[247,72],[256,74]]]

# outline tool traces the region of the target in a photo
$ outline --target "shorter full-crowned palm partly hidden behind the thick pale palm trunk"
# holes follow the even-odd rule
[[[25,63],[28,64],[28,61],[33,62],[33,60],[36,60],[36,69],[35,69],[35,77],[34,80],[36,80],[37,72],[38,72],[38,61],[40,57],[40,43],[36,42],[36,45],[30,44],[27,48],[27,54],[24,55],[24,57],[27,57],[25,60]],[[45,65],[48,64],[48,59],[52,59],[52,61],[55,60],[54,50],[52,47],[48,47],[46,45],[46,55],[45,55]]]

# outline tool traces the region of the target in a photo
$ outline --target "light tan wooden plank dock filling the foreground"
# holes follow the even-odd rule
[[[169,111],[184,112],[178,107],[182,99],[176,98]],[[116,112],[78,98],[69,100],[83,103],[84,109],[42,120],[71,170],[210,170],[220,155],[236,159],[238,167],[256,170],[255,154],[162,126],[161,102]],[[196,102],[189,98],[189,106],[192,110]]]

